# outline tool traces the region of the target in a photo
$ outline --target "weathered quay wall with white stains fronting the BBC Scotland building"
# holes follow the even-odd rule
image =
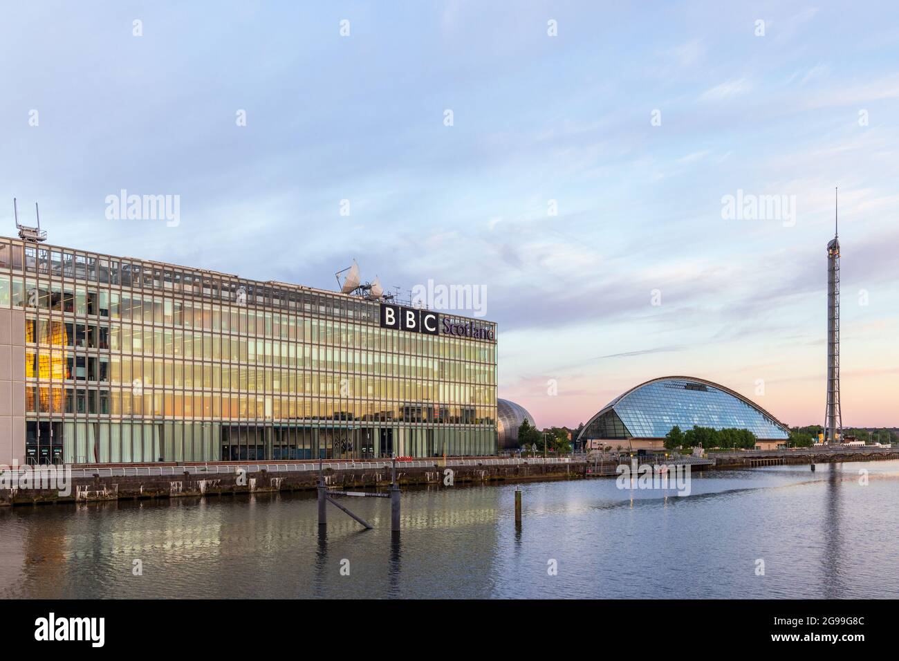
[[[586,460],[568,458],[397,461],[396,481],[403,487],[571,479],[585,477],[587,467]],[[314,490],[318,469],[314,462],[76,467],[68,493],[58,485],[36,488],[37,479],[27,482],[20,475],[14,481],[30,488],[0,488],[0,505]],[[325,461],[322,474],[328,487],[389,487],[392,466],[390,461]]]

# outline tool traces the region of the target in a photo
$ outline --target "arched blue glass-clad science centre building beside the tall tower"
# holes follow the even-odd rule
[[[675,425],[681,431],[694,425],[748,429],[764,448],[789,438],[786,424],[731,389],[692,377],[663,377],[629,389],[603,406],[583,426],[578,441],[627,441],[635,449],[661,448]]]

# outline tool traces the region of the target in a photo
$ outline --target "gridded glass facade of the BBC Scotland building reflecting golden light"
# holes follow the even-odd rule
[[[381,328],[377,301],[0,238],[0,308],[29,461],[496,453],[495,341]]]

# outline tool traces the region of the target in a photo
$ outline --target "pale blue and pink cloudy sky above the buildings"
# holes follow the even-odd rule
[[[499,397],[541,427],[666,375],[821,424],[839,186],[843,424],[899,425],[899,4],[3,17],[4,236],[16,197],[55,245],[324,289],[352,259],[389,288],[472,285]],[[172,196],[177,222],[109,218],[122,190]]]

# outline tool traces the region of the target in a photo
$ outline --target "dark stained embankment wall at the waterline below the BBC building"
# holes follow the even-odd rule
[[[584,461],[568,463],[515,465],[405,467],[397,463],[396,479],[401,487],[444,485],[451,477],[454,485],[489,482],[523,482],[529,480],[583,478]],[[71,493],[61,496],[57,488],[0,488],[0,505],[40,505],[43,503],[90,502],[139,498],[172,498],[180,496],[218,496],[278,491],[314,490],[317,470],[250,469],[217,466],[204,472],[191,467],[171,475],[102,475],[73,477]],[[451,472],[447,472],[447,471]],[[89,469],[88,469],[89,471]],[[80,472],[80,471],[79,471]],[[324,470],[328,487],[386,488],[390,486],[389,466]]]

